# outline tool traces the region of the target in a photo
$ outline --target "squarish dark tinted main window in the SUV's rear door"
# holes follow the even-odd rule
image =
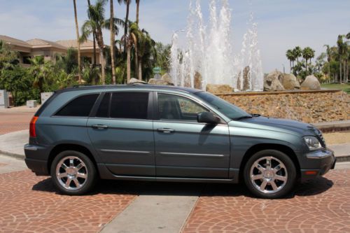
[[[114,92],[111,118],[147,119],[148,92]]]

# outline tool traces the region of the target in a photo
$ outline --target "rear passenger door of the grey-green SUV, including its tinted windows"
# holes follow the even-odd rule
[[[120,176],[155,176],[151,92],[106,92],[87,131],[106,167]]]

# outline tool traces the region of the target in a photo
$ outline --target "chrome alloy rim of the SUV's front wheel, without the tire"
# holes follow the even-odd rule
[[[279,192],[288,181],[286,166],[272,156],[256,160],[250,170],[251,183],[259,192],[273,194]]]

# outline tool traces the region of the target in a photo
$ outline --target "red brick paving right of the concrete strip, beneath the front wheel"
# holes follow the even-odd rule
[[[350,232],[350,170],[297,185],[286,199],[255,199],[243,185],[207,185],[183,233]]]

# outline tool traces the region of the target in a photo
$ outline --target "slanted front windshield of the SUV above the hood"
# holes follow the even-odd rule
[[[214,94],[210,94],[209,92],[196,92],[194,94],[209,103],[214,108],[218,109],[218,111],[226,115],[228,118],[231,118],[232,120],[252,117],[252,115],[241,110],[241,108],[230,104],[228,101],[225,101]]]

